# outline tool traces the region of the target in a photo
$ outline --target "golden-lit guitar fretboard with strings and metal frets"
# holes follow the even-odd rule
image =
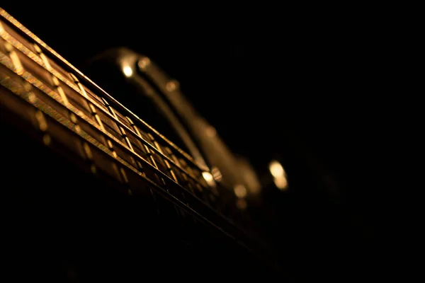
[[[0,104],[47,147],[60,145],[84,170],[120,183],[132,196],[148,188],[249,249],[261,246],[232,190],[209,185],[198,165],[0,8]]]

